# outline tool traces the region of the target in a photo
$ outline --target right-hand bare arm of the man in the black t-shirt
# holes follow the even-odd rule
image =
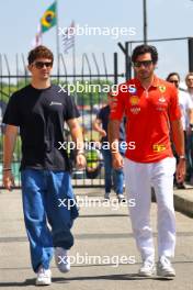
[[[84,168],[86,157],[84,157],[83,135],[78,119],[76,118],[69,119],[67,121],[67,124],[70,129],[71,138],[75,142],[77,149],[77,166],[78,168]]]

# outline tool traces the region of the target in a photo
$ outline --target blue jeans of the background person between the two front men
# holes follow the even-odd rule
[[[123,169],[113,169],[111,150],[102,148],[101,152],[104,159],[105,192],[111,192],[113,183],[116,194],[123,194]]]

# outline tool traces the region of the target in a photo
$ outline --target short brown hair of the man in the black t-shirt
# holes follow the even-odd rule
[[[52,63],[54,62],[54,55],[52,51],[44,45],[38,45],[29,53],[29,65],[31,65],[32,63],[34,63],[35,59],[41,57],[48,58],[52,60]]]

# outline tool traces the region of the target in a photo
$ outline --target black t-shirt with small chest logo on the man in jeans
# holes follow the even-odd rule
[[[31,85],[9,100],[3,123],[20,126],[22,140],[21,169],[70,170],[65,142],[64,121],[80,114],[73,98],[52,85],[35,89]]]

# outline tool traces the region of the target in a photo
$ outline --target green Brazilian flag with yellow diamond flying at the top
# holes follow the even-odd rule
[[[41,19],[41,31],[42,33],[48,31],[56,25],[57,15],[56,15],[56,2],[54,2],[44,13]]]

